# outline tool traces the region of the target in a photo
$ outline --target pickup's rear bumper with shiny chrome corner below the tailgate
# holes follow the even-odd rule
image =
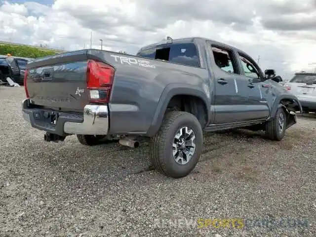
[[[47,114],[49,114],[49,118],[47,118]],[[32,127],[60,136],[69,134],[106,135],[109,131],[107,105],[86,105],[82,115],[32,108],[29,99],[25,99],[22,102],[22,115],[26,121],[31,123]],[[56,117],[56,120],[52,119]]]

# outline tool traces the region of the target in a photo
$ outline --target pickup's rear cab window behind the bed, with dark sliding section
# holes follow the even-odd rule
[[[171,63],[200,67],[197,46],[194,43],[171,43],[142,50],[137,56],[160,59]]]

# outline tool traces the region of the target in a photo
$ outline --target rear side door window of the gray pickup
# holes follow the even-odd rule
[[[215,64],[218,68],[229,74],[239,73],[233,51],[214,45],[211,47],[211,49]]]

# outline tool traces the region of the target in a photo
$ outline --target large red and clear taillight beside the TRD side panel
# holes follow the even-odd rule
[[[102,62],[88,60],[87,89],[89,101],[108,103],[114,79],[114,68]]]

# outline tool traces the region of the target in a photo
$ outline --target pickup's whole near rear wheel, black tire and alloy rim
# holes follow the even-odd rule
[[[203,132],[197,118],[187,112],[168,112],[152,139],[150,157],[162,174],[181,178],[197,165],[202,152]]]

